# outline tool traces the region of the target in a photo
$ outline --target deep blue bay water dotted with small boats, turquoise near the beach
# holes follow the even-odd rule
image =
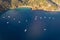
[[[60,12],[8,10],[0,15],[0,40],[60,40]]]

